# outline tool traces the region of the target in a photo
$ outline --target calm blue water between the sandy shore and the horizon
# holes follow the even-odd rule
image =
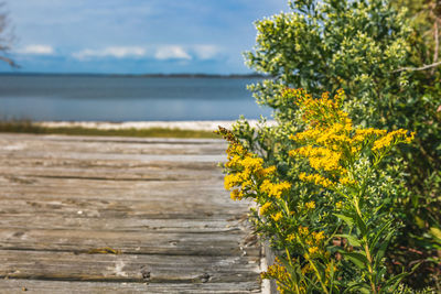
[[[258,77],[0,75],[0,120],[182,121],[270,118]]]

